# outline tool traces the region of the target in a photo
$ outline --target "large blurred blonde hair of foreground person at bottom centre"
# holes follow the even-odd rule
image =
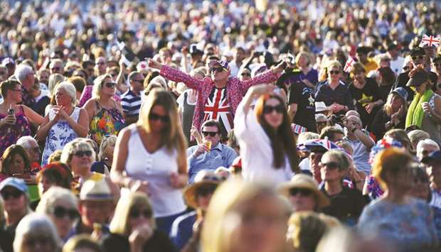
[[[229,214],[235,212],[235,209],[257,196],[267,195],[277,200],[277,205],[282,205],[288,219],[290,209],[280,196],[277,196],[274,189],[269,185],[245,182],[237,178],[231,178],[223,182],[213,197],[211,204],[208,206],[206,219],[202,229],[201,251],[206,252],[225,252],[230,246],[230,239],[233,230],[225,225],[226,218]],[[286,211],[286,212],[285,212]],[[286,224],[286,221],[284,221]]]

